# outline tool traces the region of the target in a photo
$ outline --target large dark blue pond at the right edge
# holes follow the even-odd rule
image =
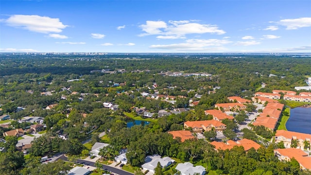
[[[311,134],[311,107],[296,107],[291,109],[290,113],[286,129]]]

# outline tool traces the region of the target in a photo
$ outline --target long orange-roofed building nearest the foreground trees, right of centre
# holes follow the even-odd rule
[[[226,150],[226,149],[232,149],[234,146],[243,146],[244,151],[248,151],[251,148],[255,148],[255,150],[258,150],[260,148],[260,144],[256,143],[253,140],[248,139],[242,139],[238,141],[228,140],[226,143],[222,141],[212,141],[210,144],[215,146],[216,150]]]

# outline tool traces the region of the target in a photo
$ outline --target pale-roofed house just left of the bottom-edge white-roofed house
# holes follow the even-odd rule
[[[141,165],[141,167],[144,170],[149,170],[150,172],[155,172],[155,167],[156,167],[158,162],[160,162],[161,166],[164,168],[164,167],[168,167],[171,164],[173,164],[174,161],[175,160],[173,160],[170,157],[161,158],[161,156],[159,156],[159,155],[147,156],[145,158],[145,163],[143,165]]]

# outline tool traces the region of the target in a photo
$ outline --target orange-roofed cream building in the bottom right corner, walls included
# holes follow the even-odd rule
[[[274,154],[280,161],[290,161],[294,157],[299,163],[300,169],[311,170],[311,157],[300,149],[275,149]]]

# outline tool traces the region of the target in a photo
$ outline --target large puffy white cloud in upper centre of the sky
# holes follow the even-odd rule
[[[142,24],[139,27],[145,33],[140,34],[139,36],[146,35],[166,35],[160,36],[157,38],[173,38],[174,36],[185,36],[188,34],[225,34],[225,31],[218,29],[217,25],[210,24],[199,24],[192,22],[193,20],[180,20],[180,21],[172,21],[170,20],[167,24],[164,21],[146,21],[146,24]],[[162,39],[161,38],[161,39]],[[180,38],[180,37],[178,37]]]

